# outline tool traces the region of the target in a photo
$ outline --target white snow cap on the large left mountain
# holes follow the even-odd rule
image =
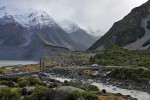
[[[13,6],[3,6],[0,8],[0,18],[4,16],[12,16],[23,27],[57,26],[54,19],[46,12],[31,8],[18,9]]]

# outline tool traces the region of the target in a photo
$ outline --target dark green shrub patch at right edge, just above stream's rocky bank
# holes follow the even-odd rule
[[[115,69],[110,73],[110,76],[116,79],[148,83],[150,81],[150,70],[143,68]]]

